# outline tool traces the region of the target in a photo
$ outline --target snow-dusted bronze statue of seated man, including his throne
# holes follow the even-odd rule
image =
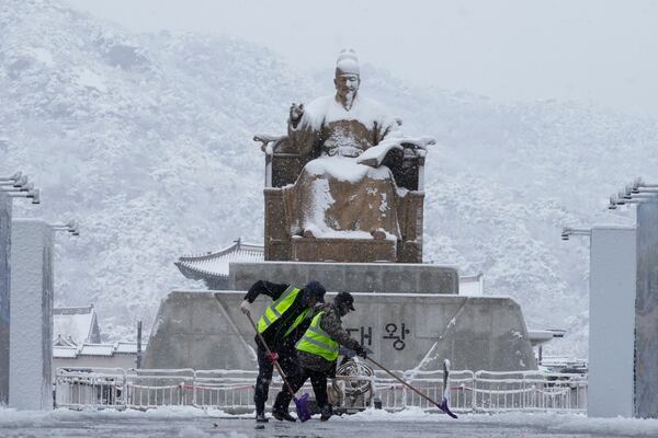
[[[333,83],[334,95],[291,106],[287,137],[256,138],[268,185],[281,187],[265,188],[265,258],[421,262],[419,183],[433,140],[404,137],[401,122],[359,93],[353,50],[339,55]]]

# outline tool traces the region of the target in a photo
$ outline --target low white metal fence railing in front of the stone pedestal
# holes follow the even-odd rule
[[[442,371],[396,372],[426,395],[441,401]],[[55,404],[57,407],[141,410],[181,405],[250,412],[254,410],[257,374],[257,371],[246,370],[60,368],[55,376]],[[343,387],[359,379],[337,377]],[[370,396],[361,397],[361,406],[355,407],[381,403],[387,411],[410,406],[438,410],[382,371],[375,371],[368,379]],[[585,412],[587,408],[587,378],[581,374],[460,370],[451,372],[449,384],[455,412]],[[274,400],[280,390],[281,381],[275,377],[270,385],[270,400]],[[310,385],[303,391],[310,392]]]

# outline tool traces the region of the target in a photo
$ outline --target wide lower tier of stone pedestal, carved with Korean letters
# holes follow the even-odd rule
[[[173,291],[162,300],[145,368],[257,369],[253,328],[240,312],[245,291]],[[327,293],[332,300],[334,293]],[[254,318],[271,301],[259,298]],[[354,293],[343,319],[373,357],[398,370],[533,370],[519,306],[511,298]]]

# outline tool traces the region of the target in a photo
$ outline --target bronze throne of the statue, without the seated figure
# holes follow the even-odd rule
[[[285,223],[283,191],[294,184],[304,165],[315,157],[299,154],[288,137],[254,136],[265,152],[265,261],[294,262],[422,262],[422,215],[424,146],[428,139],[402,142],[404,151],[392,150],[384,160],[406,196],[396,205],[401,239],[317,239],[291,235]],[[397,157],[395,157],[397,154]]]

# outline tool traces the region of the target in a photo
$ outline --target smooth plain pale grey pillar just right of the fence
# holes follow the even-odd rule
[[[633,416],[635,249],[635,228],[592,228],[588,416]]]

